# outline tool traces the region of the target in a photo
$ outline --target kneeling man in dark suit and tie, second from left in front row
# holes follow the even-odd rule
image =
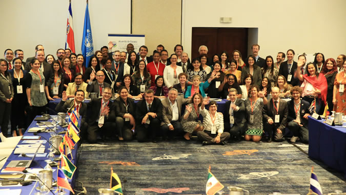
[[[88,140],[97,142],[97,133],[103,137],[115,135],[115,107],[110,101],[112,89],[105,87],[102,99],[93,99],[88,103]]]

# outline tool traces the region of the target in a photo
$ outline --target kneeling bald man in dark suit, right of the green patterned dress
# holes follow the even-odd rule
[[[268,142],[272,142],[273,131],[274,141],[283,141],[283,134],[287,124],[288,107],[287,102],[279,99],[279,88],[272,88],[273,98],[268,101],[263,108],[263,127],[269,133]]]

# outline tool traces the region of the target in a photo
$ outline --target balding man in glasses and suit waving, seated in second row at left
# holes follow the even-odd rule
[[[103,89],[106,87],[111,87],[110,84],[105,83],[105,73],[102,70],[99,70],[96,72],[96,81],[93,81],[95,79],[95,74],[92,72],[90,74],[90,81],[87,86],[87,91],[89,93],[97,93],[98,96],[103,96]]]

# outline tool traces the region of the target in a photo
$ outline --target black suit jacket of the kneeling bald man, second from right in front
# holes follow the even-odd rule
[[[273,105],[273,99],[270,99],[268,101],[267,105],[263,106],[263,123],[267,122],[268,119],[272,119],[274,124],[275,124],[275,115],[276,115],[276,110]],[[277,127],[280,130],[283,130],[286,128],[287,124],[287,115],[288,115],[288,106],[287,102],[284,100],[279,101],[279,111],[278,114],[280,115],[280,125]],[[266,120],[266,121],[264,121]]]

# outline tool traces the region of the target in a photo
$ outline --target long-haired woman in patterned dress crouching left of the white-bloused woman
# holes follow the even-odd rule
[[[193,131],[203,130],[203,125],[198,120],[202,101],[202,95],[199,93],[195,93],[190,100],[190,104],[186,105],[185,113],[181,121],[182,129],[184,129],[184,131],[186,132],[184,135],[184,138],[186,140],[190,140],[190,135]]]

